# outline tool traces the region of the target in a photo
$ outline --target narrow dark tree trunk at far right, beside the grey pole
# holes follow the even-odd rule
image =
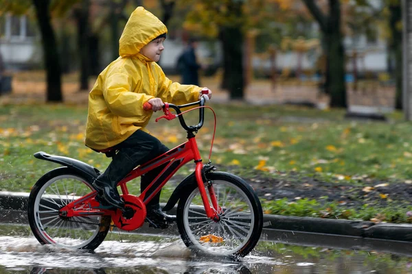
[[[402,30],[398,24],[402,21],[402,9],[400,3],[389,5],[390,17],[389,28],[391,29],[391,40],[389,51],[395,58],[395,69],[393,71],[396,81],[396,109],[402,110]]]

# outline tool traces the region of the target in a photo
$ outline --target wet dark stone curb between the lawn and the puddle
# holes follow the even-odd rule
[[[29,193],[0,191],[0,221],[9,221],[10,214],[20,216],[19,223],[27,223],[25,211]],[[12,219],[12,218],[11,218]],[[281,216],[264,214],[263,233],[281,230],[373,238],[380,240],[398,240],[412,242],[411,224],[373,223],[369,221],[348,221],[339,219],[321,219],[310,217]],[[270,239],[276,240],[276,239]]]

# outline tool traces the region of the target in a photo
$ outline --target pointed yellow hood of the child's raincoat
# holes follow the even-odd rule
[[[119,55],[137,55],[142,47],[168,29],[159,18],[143,7],[136,8],[128,19],[119,40]]]

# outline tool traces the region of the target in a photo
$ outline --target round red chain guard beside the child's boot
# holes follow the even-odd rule
[[[122,195],[124,205],[131,216],[125,216],[122,210],[117,209],[113,215],[112,220],[116,227],[126,231],[135,230],[144,224],[146,219],[146,206],[139,197],[135,195]],[[130,218],[129,218],[130,217]]]

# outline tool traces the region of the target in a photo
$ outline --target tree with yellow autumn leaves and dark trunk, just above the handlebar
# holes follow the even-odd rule
[[[183,3],[190,6],[183,25],[185,29],[192,33],[218,38],[222,42],[221,87],[229,91],[231,99],[242,99],[244,36],[247,29],[253,25],[253,17],[258,16],[255,8],[262,8],[264,1],[186,0]]]

